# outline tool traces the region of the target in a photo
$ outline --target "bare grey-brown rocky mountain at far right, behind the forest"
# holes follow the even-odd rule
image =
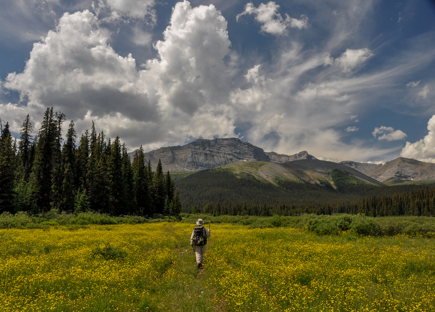
[[[342,161],[341,164],[354,168],[380,182],[386,180],[435,180],[435,164],[399,157],[382,164]],[[392,180],[389,180],[392,184]]]

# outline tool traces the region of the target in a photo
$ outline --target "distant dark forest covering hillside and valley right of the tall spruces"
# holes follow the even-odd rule
[[[355,183],[353,176],[341,170],[333,170],[331,177],[335,188],[328,183],[315,185],[289,180],[276,181],[277,186],[254,176],[241,177],[230,170],[215,168],[191,174],[177,181],[176,186],[186,213],[258,216],[363,213],[373,217],[435,213],[435,188]]]

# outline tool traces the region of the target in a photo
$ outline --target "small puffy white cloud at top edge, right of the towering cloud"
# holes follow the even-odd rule
[[[274,1],[268,3],[260,3],[258,7],[254,7],[252,2],[245,5],[244,11],[238,14],[236,20],[242,15],[254,14],[255,20],[261,24],[261,31],[268,34],[281,35],[286,34],[287,27],[308,28],[308,17],[301,15],[301,18],[293,18],[285,14],[285,19],[278,13],[279,5]]]

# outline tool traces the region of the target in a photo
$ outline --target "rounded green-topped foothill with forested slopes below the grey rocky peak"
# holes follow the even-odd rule
[[[218,202],[243,205],[245,201],[248,205],[285,203],[300,208],[336,206],[397,188],[343,164],[318,159],[231,163],[192,173],[177,180],[175,186],[185,209]]]

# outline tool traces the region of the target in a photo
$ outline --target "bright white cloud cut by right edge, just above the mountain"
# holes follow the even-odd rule
[[[435,163],[435,115],[428,121],[428,134],[417,142],[406,142],[400,156]]]

